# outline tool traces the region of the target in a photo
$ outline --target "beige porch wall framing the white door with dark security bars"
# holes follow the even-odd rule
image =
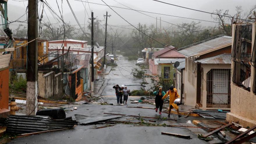
[[[219,108],[207,108],[206,107],[206,102],[207,102],[207,73],[211,69],[231,69],[230,64],[201,64],[201,67],[203,69],[203,79],[201,83],[201,104],[202,104],[202,109],[219,109]],[[226,109],[229,110],[229,108],[221,108],[221,109]]]

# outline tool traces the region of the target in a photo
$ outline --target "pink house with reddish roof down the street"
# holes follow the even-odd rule
[[[159,74],[159,63],[158,61],[162,60],[170,60],[175,63],[175,59],[184,59],[185,56],[177,52],[177,49],[173,46],[166,47],[162,50],[154,52],[152,58],[149,59],[149,69],[152,74]],[[178,60],[177,60],[178,61]],[[160,62],[161,63],[161,62]],[[167,61],[163,61],[163,63],[167,63]]]

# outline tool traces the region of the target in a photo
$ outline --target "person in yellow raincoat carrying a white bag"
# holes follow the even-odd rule
[[[181,115],[179,114],[179,107],[177,106],[177,104],[174,103],[174,100],[179,98],[179,94],[177,92],[177,89],[173,88],[173,85],[170,86],[169,91],[162,97],[162,99],[165,99],[166,97],[168,97],[168,95],[170,97],[170,105],[169,105],[168,117],[170,117],[171,109],[175,108],[177,110],[178,117],[180,118]]]

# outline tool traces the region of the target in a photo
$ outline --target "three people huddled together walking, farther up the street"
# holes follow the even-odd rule
[[[127,88],[127,86],[122,85],[121,87],[117,84],[113,86],[115,89],[115,95],[116,95],[116,100],[117,104],[122,104],[123,103],[123,96],[124,96],[124,104],[127,104],[128,96],[130,95],[130,90]]]

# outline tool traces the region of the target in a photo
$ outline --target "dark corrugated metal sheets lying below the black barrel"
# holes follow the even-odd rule
[[[10,115],[6,132],[23,134],[53,129],[72,128],[75,124],[77,124],[77,121],[72,119],[52,120],[51,117],[48,116]]]

